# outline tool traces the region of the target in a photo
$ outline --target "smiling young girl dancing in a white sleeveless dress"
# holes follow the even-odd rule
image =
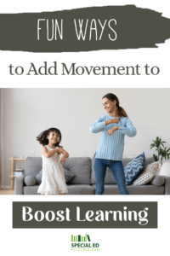
[[[42,183],[37,193],[42,195],[65,195],[68,189],[65,183],[63,166],[60,163],[65,162],[69,154],[59,146],[61,133],[56,128],[50,128],[42,131],[37,136],[37,141],[42,147]],[[62,154],[59,160],[59,154]]]

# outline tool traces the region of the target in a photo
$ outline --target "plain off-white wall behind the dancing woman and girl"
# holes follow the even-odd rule
[[[89,131],[95,119],[105,113],[101,98],[112,92],[125,108],[137,136],[125,137],[124,157],[152,156],[150,143],[162,137],[170,147],[170,89],[3,89],[2,185],[10,186],[10,160],[23,155],[41,155],[36,137],[50,127],[62,132],[62,145],[70,156],[92,157],[99,134]]]

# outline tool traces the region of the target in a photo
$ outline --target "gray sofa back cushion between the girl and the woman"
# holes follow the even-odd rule
[[[75,174],[69,184],[90,184],[91,183],[91,159],[89,157],[67,158],[62,166]]]

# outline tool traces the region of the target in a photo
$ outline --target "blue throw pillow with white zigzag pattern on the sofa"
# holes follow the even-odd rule
[[[131,185],[133,181],[139,176],[140,172],[144,170],[145,156],[144,152],[135,157],[124,168],[127,186]]]

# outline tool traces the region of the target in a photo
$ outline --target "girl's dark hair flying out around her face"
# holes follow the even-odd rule
[[[59,134],[59,138],[60,138],[60,141],[61,141],[61,132],[59,131],[59,129],[57,128],[49,128],[48,130],[46,131],[42,131],[36,138],[37,138],[37,141],[42,144],[43,146],[45,145],[48,145],[48,135],[51,133],[51,132],[56,132]],[[60,143],[60,142],[59,142]],[[61,147],[59,146],[59,143],[56,143],[54,144],[55,147]]]

